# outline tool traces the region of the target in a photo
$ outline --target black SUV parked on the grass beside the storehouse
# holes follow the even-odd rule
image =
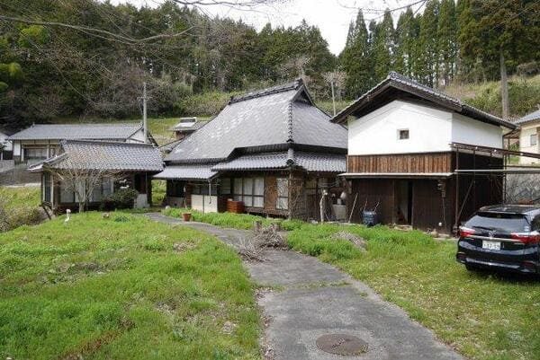
[[[482,207],[459,229],[455,259],[468,270],[540,271],[540,206]]]

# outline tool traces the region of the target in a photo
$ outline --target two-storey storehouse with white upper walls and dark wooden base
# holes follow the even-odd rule
[[[355,222],[376,208],[383,223],[450,233],[502,201],[508,121],[391,73],[332,122],[348,127],[343,176]]]

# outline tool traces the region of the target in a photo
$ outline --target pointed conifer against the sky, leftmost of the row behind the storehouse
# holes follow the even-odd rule
[[[340,55],[340,64],[347,74],[345,89],[349,98],[356,98],[372,85],[369,66],[368,32],[362,10],[351,23],[346,48]]]

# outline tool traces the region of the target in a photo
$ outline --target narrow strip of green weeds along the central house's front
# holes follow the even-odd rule
[[[182,217],[183,213],[191,213],[193,221],[200,223],[213,224],[216,226],[228,227],[231,229],[240,229],[247,230],[252,229],[253,224],[256,221],[263,223],[263,226],[268,226],[273,223],[281,224],[284,230],[293,230],[296,229],[302,224],[300,220],[284,220],[277,218],[266,218],[263,216],[249,215],[249,214],[232,214],[232,213],[208,213],[203,214],[200,211],[186,208],[171,207],[164,209],[164,215],[173,216],[173,217]]]

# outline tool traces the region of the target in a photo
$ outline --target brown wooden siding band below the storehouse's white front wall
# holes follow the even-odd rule
[[[347,172],[451,172],[452,153],[348,155]]]

